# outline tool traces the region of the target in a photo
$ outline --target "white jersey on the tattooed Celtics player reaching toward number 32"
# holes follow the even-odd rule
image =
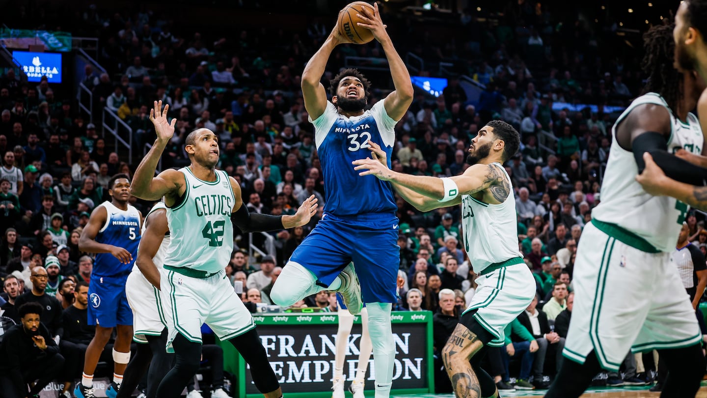
[[[503,165],[492,164],[503,171],[510,184],[510,177]],[[484,271],[493,263],[522,257],[518,250],[518,220],[513,191],[498,205],[483,203],[472,198],[472,195],[462,195],[462,227],[464,249],[475,273]]]

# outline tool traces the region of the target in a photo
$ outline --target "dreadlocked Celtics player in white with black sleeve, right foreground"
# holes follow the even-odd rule
[[[582,232],[575,292],[558,377],[546,397],[579,397],[597,370],[617,371],[629,350],[658,350],[670,374],[661,397],[694,397],[704,373],[701,331],[670,253],[688,206],[654,196],[636,182],[648,152],[665,174],[699,183],[707,170],[672,154],[700,154],[704,135],[689,113],[703,89],[694,72],[672,67],[672,27],[643,36],[645,95],[614,124],[602,203]]]

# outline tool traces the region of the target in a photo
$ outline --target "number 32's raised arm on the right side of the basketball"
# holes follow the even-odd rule
[[[414,90],[412,88],[412,81],[410,80],[410,74],[407,72],[407,67],[405,63],[402,62],[400,55],[395,51],[393,47],[393,42],[390,40],[390,36],[385,30],[385,25],[380,19],[380,12],[378,11],[378,3],[373,4],[373,9],[363,6],[361,7],[363,14],[358,14],[361,20],[365,23],[359,22],[359,26],[363,28],[370,29],[373,32],[373,37],[375,40],[380,42],[383,47],[383,52],[385,52],[385,57],[388,60],[388,67],[390,67],[390,74],[393,78],[393,85],[395,86],[395,91],[388,94],[383,101],[385,106],[385,112],[393,120],[400,120],[403,115],[407,112],[412,103],[412,98],[414,96]]]

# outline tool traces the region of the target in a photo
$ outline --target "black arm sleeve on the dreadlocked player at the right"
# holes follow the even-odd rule
[[[633,139],[631,145],[633,157],[638,164],[638,173],[645,169],[643,153],[648,152],[653,157],[655,164],[662,169],[666,176],[694,186],[707,185],[707,169],[691,164],[667,152],[665,136],[660,132],[647,131]]]

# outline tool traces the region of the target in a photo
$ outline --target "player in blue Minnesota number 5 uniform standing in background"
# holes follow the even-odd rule
[[[128,204],[130,178],[116,174],[108,182],[110,202],[93,210],[81,233],[78,249],[95,253],[93,272],[88,285],[88,324],[95,325],[95,335],[86,349],[77,398],[93,398],[93,372],[100,353],[116,329],[113,346],[113,381],[105,394],[115,398],[130,360],[132,311],[125,296],[125,282],[132,271],[140,243],[140,213]]]

